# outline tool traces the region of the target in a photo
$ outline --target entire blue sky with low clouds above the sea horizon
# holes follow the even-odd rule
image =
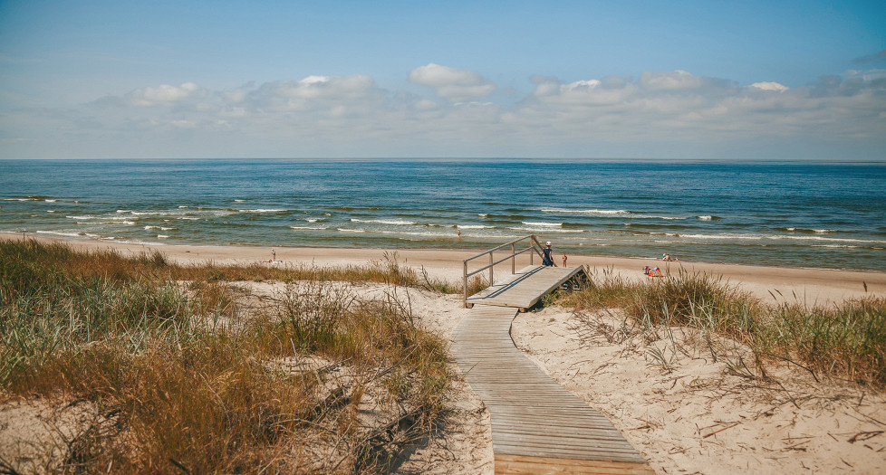
[[[886,2],[0,0],[0,159],[886,161]]]

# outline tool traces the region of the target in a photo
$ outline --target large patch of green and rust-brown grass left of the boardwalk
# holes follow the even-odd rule
[[[262,274],[287,283],[258,306],[226,282],[265,271],[0,242],[0,400],[90,414],[60,460],[17,470],[379,472],[441,422],[446,345],[400,299],[361,298],[330,270]],[[415,277],[390,263],[342,272]],[[327,364],[283,364],[313,360]],[[361,419],[367,394],[387,419]]]

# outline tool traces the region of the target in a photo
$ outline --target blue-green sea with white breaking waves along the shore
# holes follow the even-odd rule
[[[882,163],[2,160],[0,200],[0,233],[63,239],[886,269]]]

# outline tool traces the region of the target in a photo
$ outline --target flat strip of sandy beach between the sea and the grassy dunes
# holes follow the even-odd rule
[[[0,233],[0,240],[20,241],[22,234]],[[346,266],[363,265],[371,261],[385,259],[385,255],[395,255],[401,263],[424,268],[429,276],[460,282],[464,260],[477,255],[476,249],[401,249],[401,248],[333,248],[333,247],[274,247],[276,261],[270,262],[271,249],[268,246],[245,245],[149,245],[124,242],[99,242],[91,240],[66,240],[53,237],[27,235],[28,239],[41,242],[64,242],[79,250],[116,250],[124,255],[141,252],[160,252],[178,264],[191,265],[206,262],[216,264],[255,264],[270,265],[320,265]],[[505,253],[503,252],[504,256]],[[562,254],[554,248],[555,262],[562,264]],[[823,304],[865,296],[886,297],[886,272],[867,270],[835,270],[820,268],[776,267],[768,265],[711,263],[699,261],[660,261],[636,257],[613,257],[592,254],[568,254],[567,265],[588,265],[592,272],[612,271],[613,274],[629,280],[648,279],[643,273],[644,266],[659,267],[661,271],[676,274],[680,270],[702,272],[721,277],[730,285],[751,292],[759,299],[770,302],[800,302],[805,305]],[[468,271],[473,271],[486,262],[473,261]],[[536,263],[539,260],[535,260]],[[506,261],[496,265],[498,275],[510,272]],[[529,264],[528,256],[520,256],[515,262],[517,269]],[[496,278],[497,280],[497,278]],[[866,290],[865,290],[866,287]]]

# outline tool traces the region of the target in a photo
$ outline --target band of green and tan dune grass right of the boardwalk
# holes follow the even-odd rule
[[[578,310],[621,308],[647,327],[698,328],[745,344],[757,361],[790,361],[816,379],[886,388],[886,299],[766,304],[721,278],[680,270],[644,282],[600,271],[560,301]]]

